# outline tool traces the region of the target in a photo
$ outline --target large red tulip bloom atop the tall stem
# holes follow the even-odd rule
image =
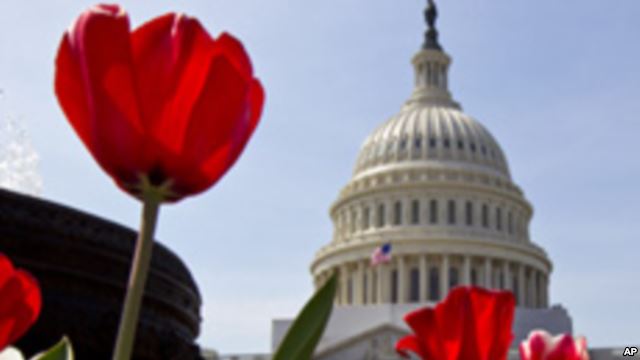
[[[64,34],[55,90],[98,164],[130,194],[176,201],[234,164],[264,101],[242,44],[213,39],[170,13],[134,31],[117,5],[97,5]]]

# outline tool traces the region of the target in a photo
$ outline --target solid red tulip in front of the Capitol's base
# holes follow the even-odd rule
[[[511,292],[455,288],[435,308],[405,316],[414,334],[400,339],[396,351],[425,360],[505,360],[514,309]]]

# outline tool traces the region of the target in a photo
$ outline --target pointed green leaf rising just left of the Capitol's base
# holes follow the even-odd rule
[[[333,309],[337,279],[334,274],[307,302],[287,331],[272,360],[309,360]]]

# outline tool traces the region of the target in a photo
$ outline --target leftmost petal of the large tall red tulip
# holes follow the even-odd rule
[[[117,6],[85,11],[56,59],[58,100],[85,146],[119,181],[134,181],[142,126],[129,43],[129,19]]]

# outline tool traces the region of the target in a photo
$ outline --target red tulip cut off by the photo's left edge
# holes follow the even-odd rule
[[[33,325],[41,306],[38,282],[0,254],[0,352]]]

